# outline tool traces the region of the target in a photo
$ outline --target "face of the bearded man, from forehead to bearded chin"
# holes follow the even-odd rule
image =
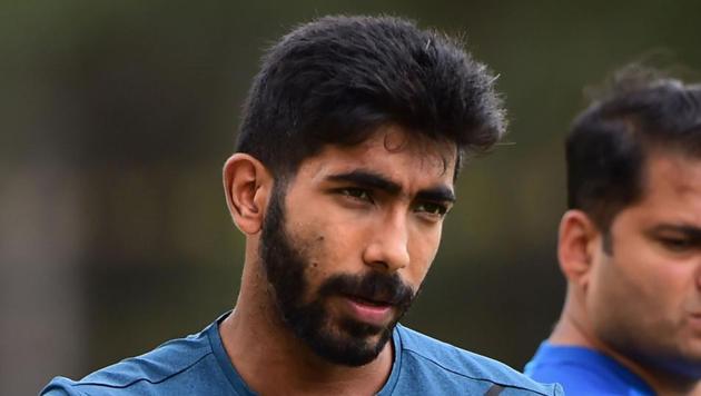
[[[283,320],[316,354],[359,366],[383,349],[435,257],[455,159],[454,145],[383,128],[276,186],[260,257]]]

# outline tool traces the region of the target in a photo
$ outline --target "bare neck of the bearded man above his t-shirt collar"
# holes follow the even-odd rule
[[[245,266],[236,309],[219,326],[224,348],[248,387],[261,395],[376,394],[392,370],[392,341],[361,367],[320,358],[280,320],[258,268]]]

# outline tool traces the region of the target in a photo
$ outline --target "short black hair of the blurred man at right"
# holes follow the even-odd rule
[[[566,140],[567,206],[605,235],[643,197],[651,150],[701,157],[701,86],[631,65],[575,120]]]

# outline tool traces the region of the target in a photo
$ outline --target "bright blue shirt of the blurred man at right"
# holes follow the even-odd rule
[[[524,373],[540,382],[560,383],[567,396],[648,396],[654,390],[615,359],[596,350],[543,341]]]

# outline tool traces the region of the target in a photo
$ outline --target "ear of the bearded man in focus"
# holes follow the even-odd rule
[[[255,157],[236,152],[224,165],[224,194],[231,218],[241,232],[260,230],[273,188],[273,176]]]

